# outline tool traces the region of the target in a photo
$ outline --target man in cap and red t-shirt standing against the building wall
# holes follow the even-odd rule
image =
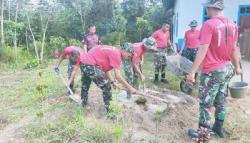
[[[181,52],[183,57],[186,57],[190,61],[194,62],[196,57],[199,43],[200,31],[196,29],[198,23],[196,20],[193,20],[189,24],[190,30],[185,33],[185,46],[183,52]]]

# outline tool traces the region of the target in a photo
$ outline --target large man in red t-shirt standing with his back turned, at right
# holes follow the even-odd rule
[[[226,113],[228,84],[234,70],[241,74],[237,52],[238,28],[234,22],[222,16],[224,2],[209,0],[207,14],[210,17],[200,33],[200,47],[187,81],[192,83],[200,64],[202,75],[199,86],[199,127],[212,129],[219,137],[224,137],[223,123]],[[234,67],[233,67],[233,65]],[[211,111],[215,107],[215,123],[211,127]],[[189,129],[190,137],[197,137],[197,132]]]

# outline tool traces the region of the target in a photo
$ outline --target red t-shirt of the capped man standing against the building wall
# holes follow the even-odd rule
[[[200,31],[199,30],[188,30],[185,33],[185,43],[187,48],[198,48],[200,45],[199,41]]]

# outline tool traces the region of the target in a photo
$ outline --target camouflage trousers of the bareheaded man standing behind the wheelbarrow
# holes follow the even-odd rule
[[[163,74],[166,71],[167,61],[166,61],[167,48],[159,49],[154,55],[154,65],[155,65],[155,74],[160,72]]]

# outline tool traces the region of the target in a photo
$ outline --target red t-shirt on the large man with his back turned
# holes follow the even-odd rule
[[[209,45],[202,63],[202,72],[211,72],[229,63],[237,39],[238,27],[234,22],[225,17],[214,17],[207,20],[200,33],[200,44]]]

